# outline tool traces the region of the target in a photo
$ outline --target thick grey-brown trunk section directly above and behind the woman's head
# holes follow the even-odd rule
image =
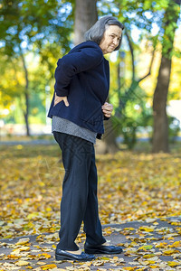
[[[76,0],[74,44],[84,41],[84,33],[98,20],[97,0]]]

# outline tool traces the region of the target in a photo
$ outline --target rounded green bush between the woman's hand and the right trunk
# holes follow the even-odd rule
[[[151,108],[147,105],[147,97],[138,83],[132,84],[131,89],[119,94],[120,107],[116,108],[112,117],[113,127],[117,136],[123,136],[123,143],[129,149],[137,143],[137,133],[140,127],[152,126]]]

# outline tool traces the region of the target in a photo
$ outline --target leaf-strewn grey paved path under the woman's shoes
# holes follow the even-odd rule
[[[97,255],[91,262],[57,262],[58,233],[0,240],[1,270],[181,270],[181,217],[103,226],[119,255]],[[78,242],[83,248],[84,236]]]

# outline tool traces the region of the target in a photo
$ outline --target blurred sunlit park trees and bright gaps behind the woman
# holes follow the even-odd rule
[[[102,15],[114,15],[125,25],[120,51],[106,56],[114,117],[104,150],[116,151],[117,137],[129,149],[138,137],[146,137],[154,152],[169,151],[169,142],[179,138],[181,120],[178,0],[3,1],[1,140],[5,135],[51,135],[47,111],[56,62],[83,41]]]

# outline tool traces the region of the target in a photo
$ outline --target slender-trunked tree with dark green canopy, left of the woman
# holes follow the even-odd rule
[[[24,90],[19,89],[18,97],[21,97],[25,105],[22,110],[27,135],[30,135],[30,76],[26,56],[33,52],[39,54],[43,61],[46,60],[50,64],[43,54],[43,49],[47,49],[47,44],[49,51],[54,51],[53,45],[56,44],[57,48],[58,44],[62,42],[62,51],[68,51],[71,24],[69,20],[66,22],[69,13],[65,8],[65,11],[63,11],[63,5],[67,4],[56,0],[47,1],[46,4],[43,0],[3,0],[1,5],[1,53],[7,56],[7,61],[13,62],[14,59],[21,61],[24,71]],[[60,13],[61,9],[62,12]]]

